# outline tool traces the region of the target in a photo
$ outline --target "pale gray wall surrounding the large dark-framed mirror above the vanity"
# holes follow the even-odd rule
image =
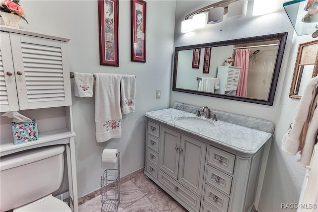
[[[177,11],[184,9],[186,1],[177,1]],[[186,46],[198,43],[230,40],[242,37],[288,32],[283,63],[280,70],[273,106],[258,105],[239,101],[231,101],[221,98],[207,97],[171,91],[170,106],[174,101],[201,106],[209,106],[213,109],[270,120],[275,123],[276,129],[270,149],[264,186],[260,197],[258,210],[261,212],[286,211],[281,209],[281,203],[298,203],[305,168],[296,162],[298,156],[290,156],[281,150],[281,140],[286,133],[289,124],[293,120],[297,99],[288,97],[292,75],[295,67],[298,45],[313,39],[310,35],[297,36],[294,33],[291,22],[283,8],[284,1],[277,1],[279,8],[276,12],[253,17],[251,15],[253,1],[248,1],[247,16],[241,19],[208,25],[205,28],[182,34],[180,23],[185,15],[207,5],[207,2],[199,1],[195,6],[186,11],[180,17],[176,17],[174,46]],[[183,5],[181,5],[183,4]],[[292,211],[292,209],[289,209]],[[294,209],[296,211],[296,209]]]

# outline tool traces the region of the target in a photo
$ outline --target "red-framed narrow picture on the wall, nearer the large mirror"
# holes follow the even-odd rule
[[[131,0],[131,61],[146,63],[146,1]]]

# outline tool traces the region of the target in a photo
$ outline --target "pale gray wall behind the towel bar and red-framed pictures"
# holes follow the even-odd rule
[[[29,24],[21,21],[20,28],[71,38],[71,71],[137,76],[136,111],[123,116],[120,139],[96,143],[94,98],[73,96],[79,197],[100,187],[100,176],[109,168],[101,163],[101,153],[106,147],[117,148],[122,153],[122,176],[144,167],[146,127],[143,114],[169,106],[175,1],[147,1],[146,63],[131,62],[130,1],[119,2],[119,67],[99,66],[97,0],[27,0],[20,4],[29,21]],[[72,86],[73,83],[74,79]],[[157,89],[161,89],[160,99],[156,99]]]

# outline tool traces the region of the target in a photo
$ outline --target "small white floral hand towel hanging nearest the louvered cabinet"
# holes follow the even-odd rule
[[[74,72],[74,95],[78,97],[92,97],[94,78],[92,73]]]

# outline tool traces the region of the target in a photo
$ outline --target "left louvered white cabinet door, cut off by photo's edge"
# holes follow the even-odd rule
[[[1,32],[0,112],[19,110],[9,33]]]

